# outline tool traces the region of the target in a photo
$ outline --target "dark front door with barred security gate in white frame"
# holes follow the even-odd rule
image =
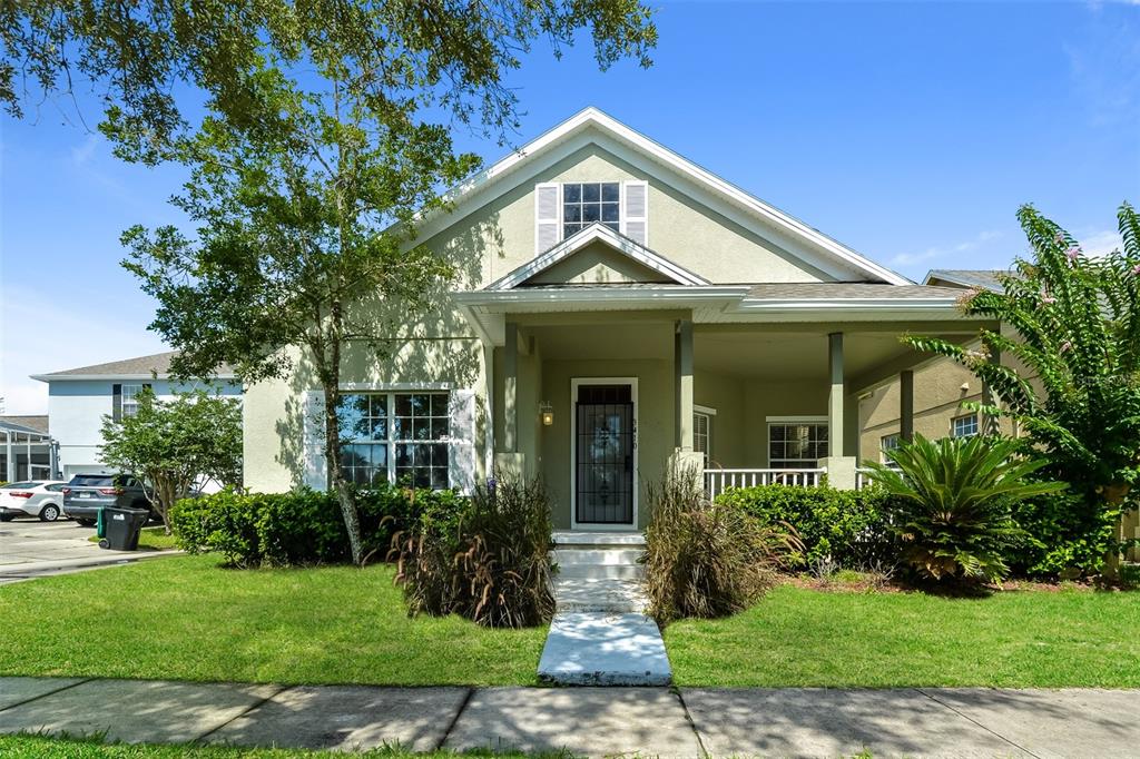
[[[624,384],[581,384],[575,398],[575,521],[633,525],[633,389]]]

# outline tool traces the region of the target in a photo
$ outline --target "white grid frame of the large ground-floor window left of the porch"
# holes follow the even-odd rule
[[[386,449],[385,450],[385,456],[384,456],[384,473],[385,473],[385,479],[386,479],[386,481],[389,483],[397,483],[398,484],[399,483],[399,476],[410,474],[413,483],[414,483],[414,487],[417,487],[417,488],[430,488],[432,490],[447,490],[448,488],[453,487],[451,485],[450,465],[451,465],[451,455],[453,455],[451,454],[451,441],[454,440],[454,434],[453,434],[453,430],[451,430],[451,422],[453,422],[451,421],[453,390],[450,387],[397,387],[397,389],[345,387],[345,389],[341,390],[341,402],[342,403],[345,402],[345,399],[348,399],[350,397],[353,397],[353,395],[365,395],[365,397],[383,395],[384,397],[384,415],[382,417],[381,416],[373,416],[370,414],[370,408],[369,408],[369,415],[366,416],[366,417],[364,417],[365,419],[380,419],[380,418],[383,418],[384,419],[384,436],[383,438],[364,438],[364,436],[352,436],[352,438],[349,438],[349,436],[344,436],[342,434],[341,435],[341,468],[342,470],[349,470],[349,471],[351,471],[351,470],[357,470],[357,468],[364,468],[364,470],[370,470],[370,471],[373,471],[373,473],[368,478],[368,482],[367,482],[367,485],[370,485],[372,481],[373,481],[373,476],[375,476],[375,471],[378,471],[380,467],[377,467],[377,466],[375,466],[375,465],[373,465],[370,463],[367,464],[366,466],[345,466],[344,458],[343,458],[344,455],[345,455],[345,449],[348,447],[351,447],[351,446],[375,446],[375,447],[383,447],[384,449]],[[429,400],[427,400],[429,411],[427,411],[426,416],[416,415],[415,414],[415,409],[414,409],[413,406],[409,406],[409,414],[408,415],[402,415],[402,414],[398,414],[397,413],[397,398],[398,397],[407,397],[407,398],[410,399],[413,395],[427,395],[429,397]],[[433,397],[442,397],[443,398],[443,409],[445,409],[445,411],[443,411],[442,415],[438,415],[438,414],[434,413],[434,406],[433,406],[433,402],[432,402],[432,398]],[[410,403],[412,401],[409,400],[408,402]],[[410,436],[404,435],[402,434],[402,430],[401,430],[401,436],[397,436],[396,435],[396,429],[398,426],[398,424],[396,423],[397,419],[408,419],[408,422],[412,423]],[[431,436],[429,436],[429,438],[415,438],[414,436],[414,434],[415,434],[414,431],[415,431],[415,422],[417,419],[426,419],[426,424],[429,426],[429,430],[431,430],[434,426],[433,422],[435,419],[445,419],[446,421],[446,432],[442,434],[442,436],[439,436],[439,438],[434,436],[434,432],[431,432],[430,433]],[[343,419],[342,419],[342,423],[343,423]],[[341,431],[337,431],[337,432],[342,433],[343,431],[341,430]],[[397,451],[398,451],[398,449],[399,449],[400,446],[407,446],[407,447],[410,447],[410,446],[437,446],[437,447],[438,446],[442,446],[443,451],[445,451],[443,464],[437,464],[434,460],[432,460],[432,462],[430,462],[426,465],[421,465],[421,464],[417,464],[417,463],[413,462],[413,464],[410,466],[399,466],[398,465],[398,454],[397,454]],[[370,460],[372,460],[372,457],[369,457],[369,462]],[[416,482],[416,471],[417,470],[426,470],[427,471],[427,484],[422,484],[422,485],[421,484],[415,484],[415,482]],[[434,481],[434,471],[435,470],[442,470],[442,475],[443,475],[442,476],[442,482],[443,482],[443,484],[439,485],[439,487],[437,485],[437,482]],[[349,479],[352,480],[352,481],[355,481],[355,479],[351,478],[351,476]]]

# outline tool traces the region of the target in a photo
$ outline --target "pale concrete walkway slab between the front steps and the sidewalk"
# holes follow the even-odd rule
[[[560,612],[538,678],[557,685],[668,685],[673,671],[657,622],[648,617]]]

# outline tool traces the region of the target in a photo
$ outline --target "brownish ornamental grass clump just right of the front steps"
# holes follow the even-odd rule
[[[772,585],[787,537],[734,505],[710,503],[694,472],[650,485],[648,500],[652,521],[642,563],[658,622],[726,617]]]

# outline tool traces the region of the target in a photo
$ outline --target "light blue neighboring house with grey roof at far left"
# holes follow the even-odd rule
[[[107,471],[99,460],[103,417],[119,419],[133,414],[138,408],[136,397],[144,387],[149,386],[156,398],[169,400],[173,392],[199,384],[170,379],[170,360],[174,356],[170,351],[32,375],[33,379],[48,383],[48,432],[58,443],[58,465],[64,479]],[[229,369],[223,369],[210,386],[225,395],[242,394]]]

